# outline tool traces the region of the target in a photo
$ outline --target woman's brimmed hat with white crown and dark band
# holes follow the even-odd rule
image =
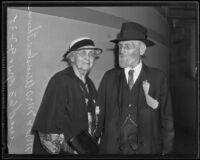
[[[68,57],[72,51],[78,51],[78,50],[95,50],[95,55],[98,56],[102,53],[102,49],[95,47],[94,41],[91,40],[88,37],[80,37],[75,40],[73,40],[69,46],[68,51],[63,55],[63,58]]]

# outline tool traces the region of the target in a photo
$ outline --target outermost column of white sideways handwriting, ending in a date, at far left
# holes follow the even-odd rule
[[[15,84],[16,80],[16,75],[14,72],[14,58],[15,54],[17,52],[17,48],[15,47],[15,43],[18,42],[18,38],[15,35],[15,30],[17,30],[17,25],[16,25],[16,20],[17,20],[18,15],[15,14],[15,16],[8,22],[8,68],[7,68],[7,73],[8,73],[8,109],[11,110],[8,118],[9,118],[9,153],[14,153],[12,149],[12,143],[15,139],[15,120],[14,117],[17,113],[17,111],[22,107],[21,104],[18,103],[16,100],[17,98],[17,92],[12,89]]]

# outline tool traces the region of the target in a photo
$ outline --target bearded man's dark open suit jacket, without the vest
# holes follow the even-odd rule
[[[119,152],[119,111],[120,83],[124,78],[123,69],[112,69],[105,73],[99,90],[97,103],[100,106],[100,128],[102,153]],[[150,83],[149,95],[158,100],[159,106],[152,109],[146,103],[142,82]],[[138,77],[140,92],[138,102],[139,154],[160,154],[172,151],[174,125],[171,97],[166,76],[155,68],[143,64]]]

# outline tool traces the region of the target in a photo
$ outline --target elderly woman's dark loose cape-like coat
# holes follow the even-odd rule
[[[92,99],[96,99],[93,82],[86,76]],[[85,95],[81,89],[83,82],[75,75],[72,67],[56,73],[49,81],[31,133],[35,135],[33,153],[44,153],[37,132],[63,133],[65,140],[77,135],[80,130],[88,130]],[[94,115],[95,106],[91,105]]]

